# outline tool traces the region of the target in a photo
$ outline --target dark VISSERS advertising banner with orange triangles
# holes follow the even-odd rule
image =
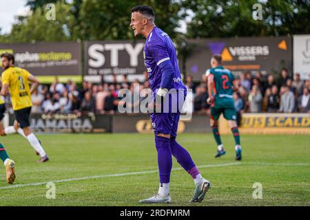
[[[205,71],[211,68],[210,59],[214,54],[221,54],[223,65],[237,75],[247,71],[272,74],[282,67],[291,72],[291,41],[287,36],[189,40],[187,75],[201,80]]]

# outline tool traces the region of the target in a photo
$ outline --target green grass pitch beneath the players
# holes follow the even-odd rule
[[[0,206],[142,206],[157,192],[154,136],[148,134],[38,134],[50,161],[38,164],[20,135],[0,142],[16,162],[17,179],[0,170]],[[188,203],[194,182],[173,159],[167,206],[310,206],[309,135],[241,135],[243,159],[234,160],[234,139],[222,135],[227,154],[214,158],[211,134],[180,134],[200,173],[211,182],[201,203]],[[136,173],[135,173],[136,172]],[[47,199],[53,181],[56,198]],[[262,184],[254,199],[253,184]],[[144,205],[145,206],[145,205]],[[154,205],[152,205],[154,206]]]

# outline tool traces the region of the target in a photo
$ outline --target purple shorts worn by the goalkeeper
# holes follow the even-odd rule
[[[163,133],[176,137],[180,113],[151,113],[151,120],[155,135]]]

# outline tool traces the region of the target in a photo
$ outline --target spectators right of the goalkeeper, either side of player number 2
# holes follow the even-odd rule
[[[206,82],[206,78],[204,81]],[[250,72],[240,74],[236,78],[239,85],[238,91],[233,94],[235,107],[238,112],[282,112],[282,113],[310,113],[310,79],[301,80],[296,73],[289,77],[287,69],[282,69],[278,80],[272,74],[266,78],[257,72],[252,76]],[[194,89],[194,110],[209,112],[206,104],[207,87],[203,82],[194,87],[192,77],[187,77],[187,88]]]

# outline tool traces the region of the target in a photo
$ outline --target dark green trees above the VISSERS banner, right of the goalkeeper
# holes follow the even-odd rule
[[[262,5],[262,21],[252,17],[254,3]],[[187,25],[190,38],[310,33],[309,0],[185,0],[183,16],[188,10],[194,12]]]

